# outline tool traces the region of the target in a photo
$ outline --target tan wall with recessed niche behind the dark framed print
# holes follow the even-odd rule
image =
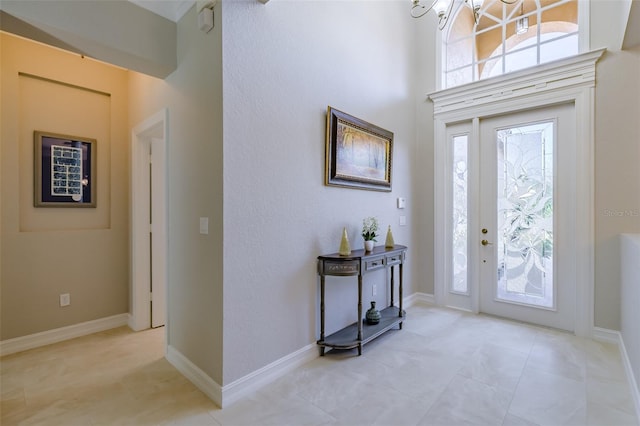
[[[0,43],[0,339],[126,313],[126,72],[6,33]],[[36,130],[96,139],[96,208],[34,207]]]

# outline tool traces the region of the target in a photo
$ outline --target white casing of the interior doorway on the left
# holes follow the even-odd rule
[[[129,327],[134,331],[151,327],[149,148],[153,144],[154,150],[160,150],[158,158],[162,159],[163,164],[156,164],[156,167],[161,168],[162,172],[159,175],[166,182],[168,125],[168,110],[163,109],[136,125],[131,132],[131,318]],[[154,196],[154,205],[160,205],[162,208],[156,207],[153,210],[153,250],[160,253],[167,253],[168,245],[165,182],[160,182],[159,185],[163,188],[159,194],[161,200],[155,199],[157,196]],[[162,262],[161,268],[154,268],[154,274],[156,273],[164,274],[162,279],[166,283],[166,277],[169,276],[167,262]],[[167,288],[164,289],[165,294],[168,293],[167,290]],[[158,302],[165,313],[168,312],[167,298],[164,295]]]

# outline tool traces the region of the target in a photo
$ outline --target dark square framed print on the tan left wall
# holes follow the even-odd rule
[[[35,131],[36,207],[96,206],[96,140]]]

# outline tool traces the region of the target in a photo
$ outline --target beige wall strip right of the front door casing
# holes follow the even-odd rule
[[[595,325],[620,330],[619,234],[640,232],[640,47],[596,69]]]

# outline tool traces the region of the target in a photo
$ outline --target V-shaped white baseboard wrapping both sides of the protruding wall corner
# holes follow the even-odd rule
[[[221,408],[228,407],[249,393],[284,376],[293,369],[317,358],[319,355],[320,351],[318,350],[318,346],[310,344],[221,387],[176,348],[169,346],[167,350],[167,360],[171,365],[178,369],[180,373]]]

